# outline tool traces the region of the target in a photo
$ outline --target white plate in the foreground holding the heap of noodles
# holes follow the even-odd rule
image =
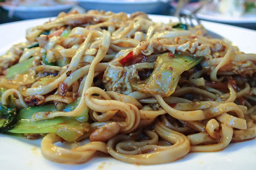
[[[168,22],[172,17],[151,15],[154,21]],[[172,18],[173,19],[173,18]],[[175,19],[174,19],[175,20]],[[28,20],[0,25],[0,53],[3,54],[13,43],[24,41],[28,27],[43,24],[47,19]],[[203,22],[204,26],[233,41],[246,53],[256,53],[256,31],[230,25]],[[19,28],[19,29],[17,29]],[[8,36],[6,36],[8,32]],[[96,155],[97,156],[97,155]],[[15,136],[0,134],[0,169],[255,169],[256,139],[243,143],[232,143],[221,152],[189,153],[184,158],[169,164],[138,166],[126,164],[111,157],[95,157],[79,165],[58,164],[44,159],[40,153],[40,139],[31,141]]]

